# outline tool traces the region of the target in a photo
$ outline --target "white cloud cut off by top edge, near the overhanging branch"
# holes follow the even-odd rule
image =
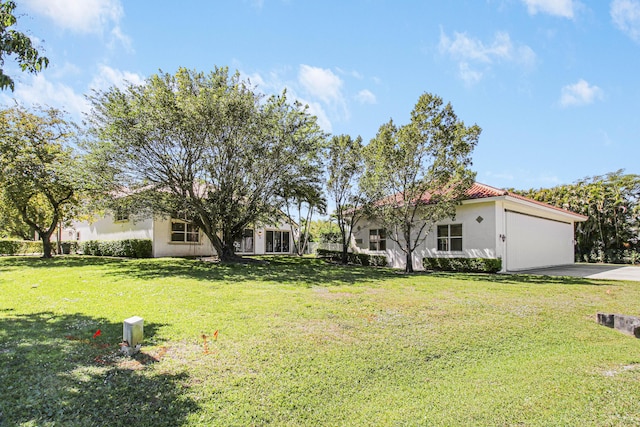
[[[24,3],[59,27],[79,33],[101,33],[124,15],[120,0],[24,0]]]

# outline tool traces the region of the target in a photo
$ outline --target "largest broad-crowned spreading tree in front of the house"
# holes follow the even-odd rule
[[[184,68],[91,97],[89,158],[101,186],[155,213],[181,212],[234,259],[250,224],[281,216],[283,188],[305,182],[315,117],[286,94],[264,99],[238,73]]]

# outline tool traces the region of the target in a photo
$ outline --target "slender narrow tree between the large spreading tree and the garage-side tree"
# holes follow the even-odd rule
[[[327,149],[327,189],[335,203],[342,242],[342,263],[347,263],[353,225],[362,217],[365,201],[358,182],[364,168],[362,138],[334,136]]]

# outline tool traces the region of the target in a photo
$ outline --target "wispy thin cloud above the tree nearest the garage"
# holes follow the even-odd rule
[[[458,61],[460,78],[467,84],[479,82],[484,71],[496,63],[513,63],[530,68],[536,62],[533,49],[524,44],[514,44],[506,32],[497,32],[493,41],[486,44],[466,33],[454,32],[451,38],[441,30],[439,48],[441,53]]]

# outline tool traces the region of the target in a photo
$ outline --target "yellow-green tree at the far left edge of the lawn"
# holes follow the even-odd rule
[[[58,110],[0,111],[2,199],[37,231],[45,258],[51,257],[51,235],[76,201],[75,158],[69,147],[74,138],[73,126]]]

